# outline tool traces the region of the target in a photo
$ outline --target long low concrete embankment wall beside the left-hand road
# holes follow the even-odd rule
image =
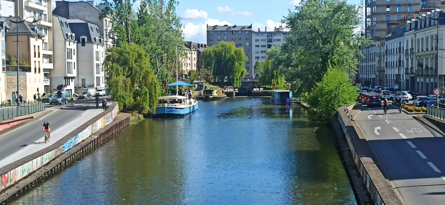
[[[2,201],[1,198],[4,197],[4,192],[7,189],[14,187],[16,183],[24,180],[28,175],[48,164],[57,156],[66,153],[93,133],[112,123],[117,115],[117,106],[117,102],[112,103],[107,110],[98,114],[76,130],[73,130],[73,132],[67,134],[53,145],[0,168],[0,193],[2,195],[0,201]],[[11,193],[8,193],[8,195],[9,194]]]

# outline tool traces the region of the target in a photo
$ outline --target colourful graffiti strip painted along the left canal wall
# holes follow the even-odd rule
[[[76,134],[75,136],[67,140],[62,146],[57,147],[56,149],[51,150],[50,152],[43,154],[40,157],[35,158],[32,161],[27,162],[24,165],[19,166],[14,170],[11,170],[7,173],[4,173],[3,175],[0,175],[1,179],[0,192],[3,191],[6,187],[17,183],[17,181],[19,181],[23,177],[28,176],[30,173],[39,169],[41,166],[50,162],[57,156],[66,152],[73,146],[77,145],[79,142],[82,142],[83,140],[91,136],[91,134],[97,132],[97,130],[100,130],[102,127],[111,123],[113,119],[116,117],[116,114],[117,114],[117,104],[112,111],[105,114],[105,116],[101,117],[96,122],[93,122],[91,125],[85,128],[85,130],[82,130],[79,134]]]

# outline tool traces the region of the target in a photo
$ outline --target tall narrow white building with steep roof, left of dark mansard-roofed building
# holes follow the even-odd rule
[[[68,21],[53,15],[53,65],[51,71],[51,91],[57,91],[58,85],[67,95],[74,93],[74,79],[77,77],[77,41]]]

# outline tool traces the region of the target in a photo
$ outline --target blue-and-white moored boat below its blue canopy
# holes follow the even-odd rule
[[[198,101],[185,96],[170,95],[159,97],[155,118],[184,117],[198,109]]]

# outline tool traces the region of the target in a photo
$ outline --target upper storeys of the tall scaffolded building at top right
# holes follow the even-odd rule
[[[386,36],[386,23],[401,19],[412,19],[415,11],[428,6],[427,0],[366,0],[365,1],[365,35],[369,39]],[[436,2],[436,1],[435,1]]]

